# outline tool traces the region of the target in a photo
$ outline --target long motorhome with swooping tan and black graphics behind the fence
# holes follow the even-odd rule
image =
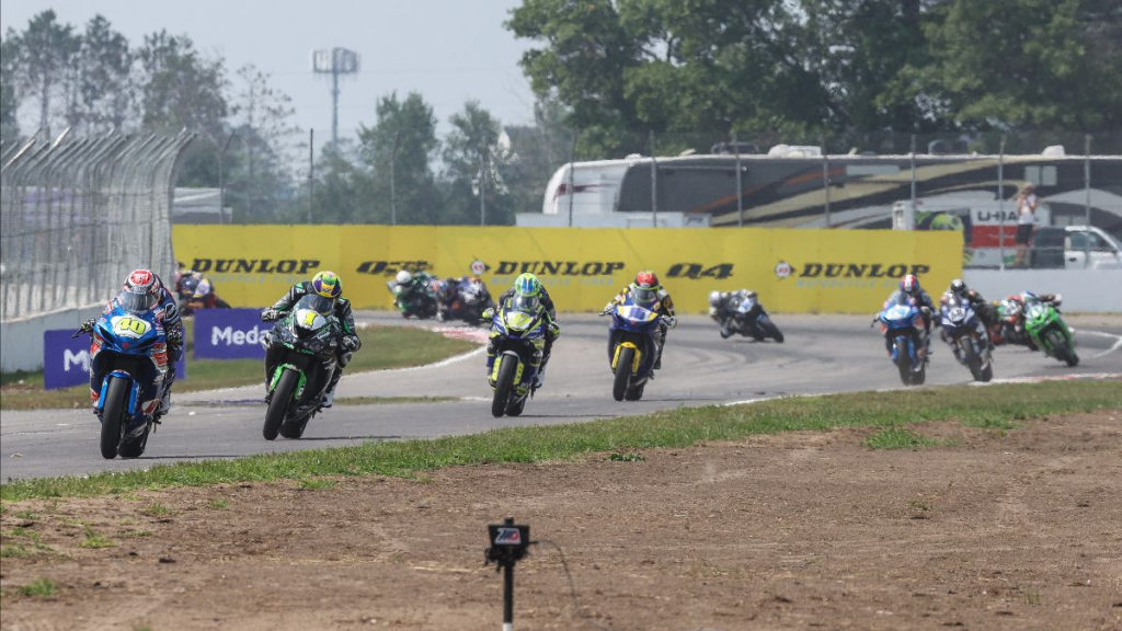
[[[902,201],[917,200],[919,210],[920,200],[958,196],[977,201],[959,214],[978,226],[969,235],[980,239],[978,247],[1004,238],[1012,247],[1006,232],[1015,228],[1001,226],[1015,225],[1009,213],[1017,190],[1033,182],[1049,208],[1041,223],[1089,217],[1093,226],[1122,232],[1122,156],[822,155],[817,149],[784,145],[767,155],[569,163],[546,184],[541,212],[519,213],[517,222],[888,229]]]

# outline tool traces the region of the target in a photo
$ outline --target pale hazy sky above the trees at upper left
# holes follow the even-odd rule
[[[315,129],[316,145],[331,135],[331,79],[311,70],[313,49],[341,46],[361,56],[361,71],[340,81],[339,136],[353,137],[375,121],[375,104],[396,91],[417,92],[432,108],[439,132],[477,100],[506,125],[533,122],[530,82],[517,62],[531,47],[503,28],[521,0],[3,0],[0,28],[22,30],[36,13],[54,9],[81,31],[96,13],[132,46],[166,28],[196,48],[226,60],[234,81],[251,63],[292,97],[294,121]]]

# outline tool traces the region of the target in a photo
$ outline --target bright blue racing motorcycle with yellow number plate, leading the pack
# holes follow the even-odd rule
[[[144,454],[167,387],[167,336],[162,316],[144,300],[121,292],[107,313],[73,336],[91,335],[91,371],[104,372],[94,410],[101,421],[101,455],[108,459]]]

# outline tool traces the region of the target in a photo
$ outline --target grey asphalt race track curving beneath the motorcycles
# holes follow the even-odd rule
[[[1021,347],[1001,347],[994,382],[1122,375],[1122,318],[1066,317],[1076,329],[1080,363],[1075,368]],[[175,394],[173,410],[149,438],[141,458],[105,460],[98,450],[98,420],[89,410],[3,412],[0,419],[0,478],[4,481],[104,470],[147,468],[184,460],[237,458],[252,454],[320,449],[368,440],[477,433],[504,426],[582,422],[678,406],[714,405],[797,394],[902,388],[871,317],[784,316],[773,320],[784,344],[720,339],[702,316],[680,319],[669,337],[663,369],[647,384],[643,401],[611,399],[607,320],[561,316],[545,387],[518,418],[490,414],[490,388],[482,348],[433,366],[347,375],[338,397],[440,396],[454,401],[339,405],[315,417],[304,438],[261,438],[264,385]],[[364,312],[359,321],[405,323],[389,313]],[[433,321],[410,326],[444,328]],[[482,339],[482,330],[457,332]],[[932,341],[928,385],[965,384],[969,372],[950,349]],[[377,353],[364,348],[361,353]]]

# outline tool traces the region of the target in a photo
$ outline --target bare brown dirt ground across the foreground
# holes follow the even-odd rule
[[[8,504],[0,628],[499,629],[514,516],[515,629],[1122,629],[1122,410],[916,430]]]

